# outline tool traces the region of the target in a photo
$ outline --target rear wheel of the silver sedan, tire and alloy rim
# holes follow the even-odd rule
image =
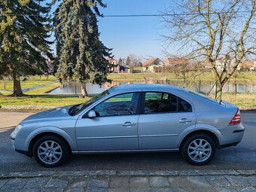
[[[197,145],[196,145],[197,144]],[[181,146],[181,155],[188,163],[201,166],[209,163],[215,156],[215,142],[203,133],[190,136]]]

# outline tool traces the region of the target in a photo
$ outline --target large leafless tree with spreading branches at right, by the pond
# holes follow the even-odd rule
[[[163,23],[170,33],[163,39],[172,51],[209,63],[221,99],[224,84],[256,49],[256,0],[175,1],[164,13]],[[222,65],[217,67],[220,59]]]

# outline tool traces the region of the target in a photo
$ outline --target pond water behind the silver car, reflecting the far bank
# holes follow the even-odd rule
[[[112,81],[111,84],[106,83],[102,86],[96,84],[87,84],[87,92],[90,95],[102,93],[104,90],[108,90],[113,86],[118,86],[121,84],[173,84],[175,86],[183,87],[183,81]],[[208,93],[212,89],[212,93],[215,92],[214,81],[194,81],[192,84],[187,84],[187,89],[194,90],[194,91],[201,91],[203,93]],[[234,82],[228,82],[224,85],[223,92],[233,92],[235,90]],[[236,91],[237,93],[256,93],[256,82],[246,82],[246,81],[236,81]],[[68,84],[64,84],[64,87],[57,87],[55,90],[50,91],[50,93],[74,93],[80,94],[81,93],[81,85],[74,81],[69,82]]]

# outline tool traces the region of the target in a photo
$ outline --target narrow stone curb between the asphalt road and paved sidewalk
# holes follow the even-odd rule
[[[45,176],[119,175],[119,176],[183,176],[183,175],[256,175],[256,170],[180,170],[180,171],[67,171],[67,172],[9,172],[0,173],[0,178],[34,178]]]

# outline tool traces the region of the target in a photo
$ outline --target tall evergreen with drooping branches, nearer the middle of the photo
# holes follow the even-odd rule
[[[54,3],[54,1],[53,1]],[[96,16],[102,0],[63,0],[54,13],[57,72],[61,82],[81,83],[81,95],[87,96],[86,84],[104,84],[111,64],[111,49],[99,41]]]

